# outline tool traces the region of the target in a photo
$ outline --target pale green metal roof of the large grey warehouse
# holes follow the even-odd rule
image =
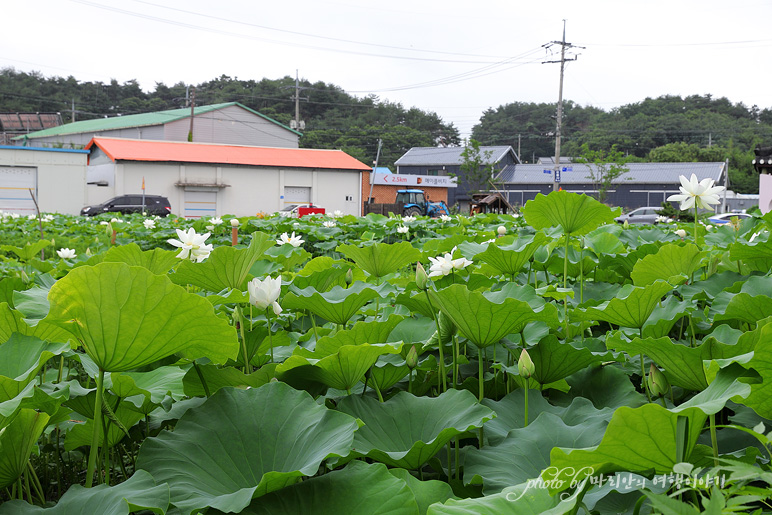
[[[258,113],[257,111],[250,109],[245,105],[239,104],[238,102],[226,102],[224,104],[197,106],[194,110],[194,116],[204,114],[204,113],[209,113],[211,111],[217,111],[219,109],[224,109],[226,107],[230,107],[234,105],[239,106],[242,109],[246,109],[250,113],[256,114],[257,116],[265,120],[268,120],[269,122],[275,123],[279,127],[287,129],[290,132],[294,132],[298,136],[302,135],[300,132],[294,129],[290,129],[286,125],[277,122],[273,118],[269,118],[264,114]],[[164,123],[169,123],[175,120],[181,120],[189,117],[190,117],[190,108],[185,107],[182,109],[171,109],[169,111],[129,114],[126,116],[113,116],[111,118],[97,118],[95,120],[83,120],[80,122],[66,123],[58,127],[51,127],[50,129],[45,129],[42,131],[31,132],[29,134],[18,136],[13,139],[15,140],[16,139],[34,139],[34,138],[45,138],[48,136],[61,136],[64,134],[81,134],[84,132],[101,132],[101,131],[109,131],[109,130],[116,130],[116,129],[127,129],[130,127],[147,127],[150,125],[161,125]]]

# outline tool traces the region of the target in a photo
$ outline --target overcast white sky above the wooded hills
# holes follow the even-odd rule
[[[712,94],[772,108],[772,0],[7,0],[0,67],[80,81],[294,76],[434,111],[467,137],[483,111],[604,110]],[[579,48],[584,47],[584,48]],[[0,93],[2,93],[0,91]],[[237,100],[237,99],[234,99]],[[313,95],[311,95],[313,100]],[[301,105],[302,118],[302,105]]]

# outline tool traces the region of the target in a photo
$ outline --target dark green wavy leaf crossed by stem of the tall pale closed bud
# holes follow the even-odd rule
[[[496,446],[513,429],[525,426],[525,390],[519,388],[507,394],[500,401],[483,399],[483,404],[496,412],[496,418],[485,424],[487,441]],[[584,397],[576,397],[568,406],[553,406],[542,397],[538,390],[528,390],[528,420],[534,421],[540,414],[549,413],[560,417],[569,426],[591,420],[601,420],[605,427],[611,418],[613,408],[596,409],[592,402]]]

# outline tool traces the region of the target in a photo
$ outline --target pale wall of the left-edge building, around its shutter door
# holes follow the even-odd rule
[[[0,166],[37,169],[37,199],[44,213],[80,213],[86,205],[87,158],[84,151],[0,148]]]

